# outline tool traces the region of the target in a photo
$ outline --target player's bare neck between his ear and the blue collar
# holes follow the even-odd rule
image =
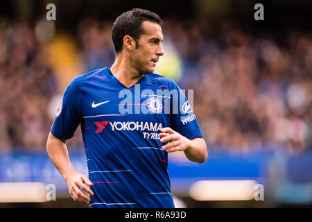
[[[130,65],[130,60],[124,59],[123,55],[116,56],[110,71],[127,88],[137,83],[144,76],[139,74],[137,69]]]

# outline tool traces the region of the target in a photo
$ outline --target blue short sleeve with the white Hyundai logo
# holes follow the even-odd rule
[[[174,82],[173,89],[177,93],[171,94],[171,128],[188,139],[204,137],[187,97]]]

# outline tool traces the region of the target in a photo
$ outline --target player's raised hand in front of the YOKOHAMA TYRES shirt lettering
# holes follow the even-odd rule
[[[162,133],[159,133],[160,142],[168,144],[162,146],[162,149],[168,153],[175,151],[185,151],[189,148],[189,139],[175,132],[175,130],[166,127],[162,128]]]

